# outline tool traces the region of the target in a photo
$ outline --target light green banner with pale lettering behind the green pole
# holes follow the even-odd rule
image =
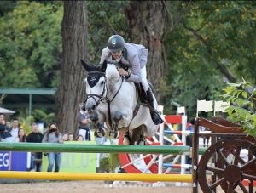
[[[95,141],[67,141],[65,144],[96,145]],[[42,171],[47,172],[48,156],[43,156]],[[54,171],[55,167],[53,167]],[[96,173],[96,153],[61,153],[60,172]]]

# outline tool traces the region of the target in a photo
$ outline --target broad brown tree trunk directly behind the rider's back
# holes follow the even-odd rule
[[[126,9],[131,40],[148,48],[148,81],[154,86],[154,94],[160,99],[160,85],[166,73],[166,54],[162,43],[166,23],[164,1],[131,1]]]

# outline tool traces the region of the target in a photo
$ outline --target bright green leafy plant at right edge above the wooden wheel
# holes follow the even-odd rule
[[[228,83],[222,98],[230,102],[229,119],[240,123],[242,128],[256,137],[256,88],[251,82]]]

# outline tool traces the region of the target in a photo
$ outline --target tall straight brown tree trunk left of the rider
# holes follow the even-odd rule
[[[75,133],[79,103],[85,96],[80,59],[88,57],[87,9],[84,1],[64,1],[61,84],[55,93],[55,113],[61,133]]]

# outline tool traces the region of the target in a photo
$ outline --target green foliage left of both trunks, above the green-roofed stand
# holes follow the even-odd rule
[[[56,86],[52,80],[60,69],[63,11],[55,8],[19,1],[0,18],[0,87]]]

